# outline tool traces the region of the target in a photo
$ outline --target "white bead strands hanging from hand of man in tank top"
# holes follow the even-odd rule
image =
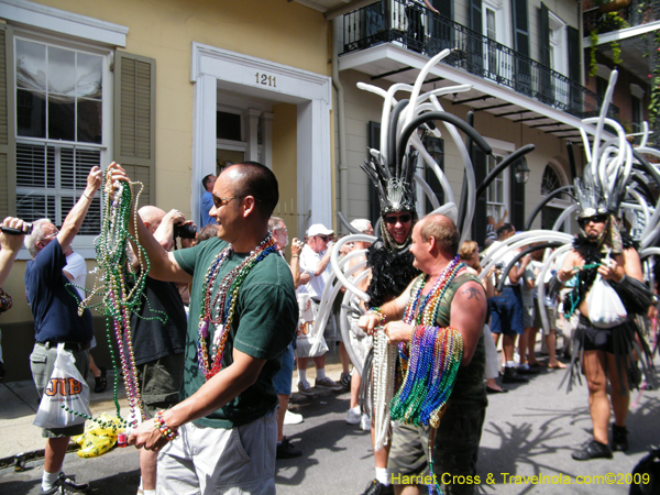
[[[389,402],[394,396],[394,373],[396,370],[396,345],[380,327],[374,334],[373,364],[373,416],[374,450],[381,450],[389,442]]]

